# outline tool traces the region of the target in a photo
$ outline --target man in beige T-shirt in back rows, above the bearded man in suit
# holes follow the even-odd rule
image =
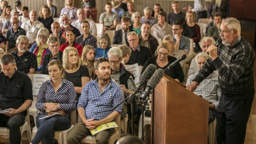
[[[118,15],[111,11],[112,5],[109,2],[105,4],[104,9],[106,10],[106,12],[100,14],[100,19],[99,19],[100,24],[104,25],[103,27],[104,31],[115,30],[115,27],[118,24]]]

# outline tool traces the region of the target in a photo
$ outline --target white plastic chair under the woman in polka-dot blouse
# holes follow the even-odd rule
[[[69,129],[64,131],[55,131],[54,138],[58,140],[59,144],[67,144],[67,135],[69,131],[74,127],[76,124],[76,110],[72,111],[70,114],[71,126]],[[37,132],[37,126],[33,127],[32,129],[32,139],[35,137],[35,133]]]

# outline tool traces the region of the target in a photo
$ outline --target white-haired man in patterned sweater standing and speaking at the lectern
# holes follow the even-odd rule
[[[236,18],[224,19],[219,32],[222,44],[208,48],[210,58],[187,90],[194,91],[213,70],[217,70],[221,90],[217,108],[217,144],[243,144],[255,93],[255,53],[240,36],[241,25]]]

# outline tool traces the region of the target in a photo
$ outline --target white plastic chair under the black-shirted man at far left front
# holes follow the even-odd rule
[[[25,123],[23,124],[23,126],[20,127],[20,133],[22,136],[22,133],[24,131],[27,131],[27,135],[28,135],[28,142],[31,142],[31,131],[30,131],[30,118],[29,118],[29,109],[27,110],[28,114],[25,116]],[[9,136],[9,128],[7,127],[0,127],[0,135],[7,135]],[[22,137],[21,137],[22,139]],[[21,144],[21,142],[20,142]]]

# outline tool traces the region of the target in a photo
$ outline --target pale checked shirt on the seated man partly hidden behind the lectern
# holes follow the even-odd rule
[[[195,78],[197,73],[192,74],[188,77],[186,85],[192,83],[192,80]],[[218,74],[212,73],[206,79],[204,79],[200,85],[197,86],[197,89],[194,91],[194,94],[202,96],[204,100],[209,101],[215,105],[217,109],[219,105],[219,99],[221,98],[221,91],[218,86]]]

